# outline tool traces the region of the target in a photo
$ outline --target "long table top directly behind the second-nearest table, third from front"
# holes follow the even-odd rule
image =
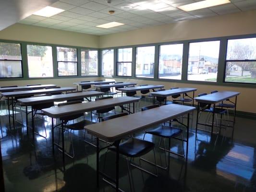
[[[48,103],[48,102],[57,102],[57,101],[65,101],[68,99],[78,99],[89,96],[101,96],[103,92],[98,91],[85,91],[79,93],[70,93],[70,94],[62,94],[62,95],[53,95],[53,96],[37,96],[37,97],[28,97],[18,99],[18,102],[23,104],[24,106],[31,106],[35,104]]]

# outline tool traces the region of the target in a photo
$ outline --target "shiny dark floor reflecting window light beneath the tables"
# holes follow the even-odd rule
[[[148,105],[149,103],[142,103]],[[4,112],[3,110],[2,112]],[[87,114],[89,117],[89,114]],[[16,115],[21,119],[20,113]],[[195,118],[192,116],[189,132],[189,148],[187,162],[182,157],[168,155],[169,169],[158,169],[158,177],[150,176],[136,168],[132,168],[135,192],[256,192],[256,120],[236,118],[233,139],[231,129],[223,135],[212,135],[197,132],[195,135]],[[204,117],[202,117],[203,119]],[[50,119],[44,121],[36,118],[36,127],[47,139],[36,136],[32,142],[32,134],[26,134],[25,126],[16,123],[16,129],[10,131],[8,118],[0,116],[1,152],[6,192],[113,192],[114,190],[100,181],[96,188],[96,149],[85,144],[84,131],[65,134],[66,149],[72,153],[71,135],[74,144],[74,159],[65,157],[66,171],[62,171],[61,152],[56,148],[52,155]],[[186,120],[184,119],[184,122]],[[31,123],[31,122],[29,122]],[[208,129],[208,128],[206,128]],[[55,130],[58,141],[59,131]],[[136,134],[142,138],[143,132]],[[90,135],[86,139],[93,141]],[[159,138],[146,135],[146,140],[156,144]],[[106,144],[101,143],[102,146]],[[184,144],[185,146],[185,144]],[[172,139],[171,150],[182,153],[181,141]],[[157,162],[165,166],[164,153],[157,149]],[[153,153],[145,156],[153,160]],[[103,169],[105,154],[100,156],[100,168]],[[139,163],[138,159],[134,159]],[[142,166],[152,172],[154,167],[142,162]],[[115,155],[108,152],[104,172],[115,175]],[[129,192],[125,158],[120,160],[120,187]]]

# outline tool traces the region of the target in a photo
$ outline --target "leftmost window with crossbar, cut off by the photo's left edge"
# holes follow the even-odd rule
[[[0,78],[22,77],[21,45],[0,42]]]

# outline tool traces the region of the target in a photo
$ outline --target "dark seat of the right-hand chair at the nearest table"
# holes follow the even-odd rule
[[[146,131],[146,133],[157,135],[165,138],[172,138],[180,135],[183,132],[182,129],[170,126],[160,126],[154,130]]]

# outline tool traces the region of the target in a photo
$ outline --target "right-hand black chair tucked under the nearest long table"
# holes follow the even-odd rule
[[[151,105],[151,106],[146,106],[144,108],[141,108],[142,111],[145,111],[145,110],[149,110],[149,109],[152,109],[152,108],[158,108],[159,105]],[[176,122],[179,122],[178,120],[173,120],[173,121],[176,121]],[[159,144],[158,144],[158,148],[159,149],[162,149],[164,150],[165,152],[168,152],[168,153],[171,153],[171,154],[174,154],[174,155],[177,155],[177,156],[182,156],[184,157],[185,156],[185,153],[184,153],[184,146],[183,146],[183,130],[180,129],[180,128],[177,128],[177,127],[173,127],[171,126],[171,121],[170,121],[170,126],[165,126],[165,125],[160,125],[158,128],[155,128],[153,130],[150,130],[150,131],[146,131],[144,133],[144,137],[143,137],[143,140],[145,139],[145,135],[146,134],[152,134],[152,135],[156,135],[156,136],[159,136],[160,137],[160,141],[159,141]],[[178,154],[178,153],[175,153],[173,151],[170,150],[171,148],[171,138],[176,138],[177,139],[177,136],[180,136],[181,135],[181,141],[182,141],[182,148],[183,148],[183,155],[181,154]],[[166,145],[165,145],[165,139],[169,139],[169,150],[166,149]],[[163,145],[164,147],[161,147],[161,140],[163,139]],[[179,139],[180,140],[180,139]],[[146,159],[142,159],[146,162],[149,162],[148,160]],[[152,163],[152,162],[149,162],[149,163]],[[167,156],[166,156],[166,153],[165,153],[165,163],[166,163],[166,167],[162,167],[162,166],[159,166],[157,165],[159,168],[163,168],[163,169],[167,169],[168,168],[168,163],[167,163]]]

